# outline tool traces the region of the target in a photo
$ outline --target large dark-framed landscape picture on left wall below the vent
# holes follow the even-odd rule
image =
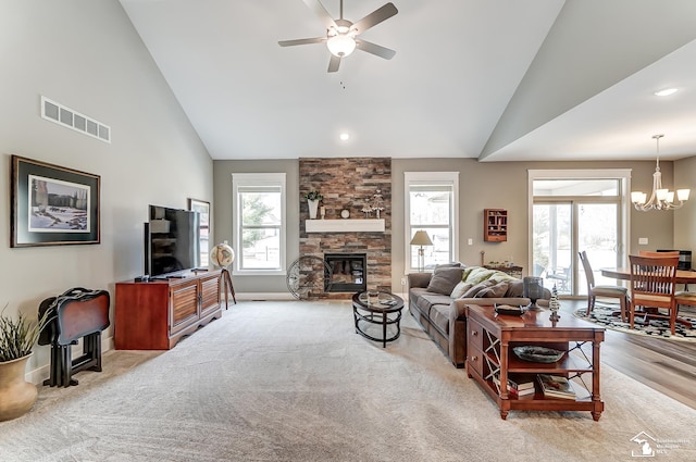
[[[11,247],[100,244],[101,177],[12,155]]]

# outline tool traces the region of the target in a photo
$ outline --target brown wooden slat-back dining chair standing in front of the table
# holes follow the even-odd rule
[[[674,300],[674,277],[678,257],[629,255],[631,262],[631,310],[629,323],[634,326],[636,314],[645,315],[645,323],[651,317],[669,320],[670,330],[674,335],[676,324],[676,303]],[[643,307],[642,311],[637,308]],[[660,309],[667,310],[662,314]]]

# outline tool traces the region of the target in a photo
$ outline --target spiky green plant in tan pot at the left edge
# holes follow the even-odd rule
[[[25,380],[32,348],[50,320],[50,310],[33,323],[22,313],[16,320],[0,312],[0,422],[26,413],[36,401],[36,385]]]

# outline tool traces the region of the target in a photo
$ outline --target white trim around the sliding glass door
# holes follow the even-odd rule
[[[621,203],[621,236],[622,246],[620,248],[621,261],[629,260],[629,229],[631,229],[631,168],[587,168],[587,170],[529,170],[527,171],[527,236],[533,236],[534,223],[534,180],[535,179],[559,179],[559,178],[586,178],[586,179],[620,179],[621,191],[619,196]],[[533,260],[532,245],[527,246],[527,267],[531,267]]]

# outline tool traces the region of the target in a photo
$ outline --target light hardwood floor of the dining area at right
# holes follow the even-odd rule
[[[562,300],[562,311],[587,307]],[[664,340],[607,329],[601,362],[696,409],[696,342]]]

